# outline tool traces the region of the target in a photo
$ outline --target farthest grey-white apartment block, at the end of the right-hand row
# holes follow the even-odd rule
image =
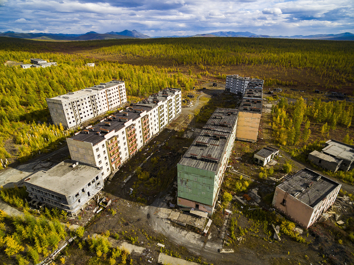
[[[225,91],[242,96],[246,88],[263,88],[263,80],[239,75],[227,75]]]

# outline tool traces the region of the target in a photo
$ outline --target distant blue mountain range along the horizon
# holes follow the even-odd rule
[[[106,32],[97,33],[90,31],[85,34],[54,34],[54,33],[17,33],[14,31],[0,32],[0,36],[20,38],[20,39],[33,39],[33,40],[66,40],[66,41],[79,41],[79,40],[108,40],[108,39],[148,39],[148,38],[186,38],[186,37],[247,37],[247,38],[277,38],[277,39],[313,39],[313,40],[351,40],[354,41],[353,33],[341,34],[316,34],[316,35],[294,35],[294,36],[269,36],[258,35],[249,31],[216,31],[206,34],[196,34],[193,36],[156,36],[150,37],[142,34],[136,30],[123,30],[120,32]]]

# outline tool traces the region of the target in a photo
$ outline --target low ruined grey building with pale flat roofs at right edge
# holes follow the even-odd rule
[[[348,171],[354,168],[354,145],[344,144],[336,140],[328,140],[321,152],[314,150],[308,156],[315,165],[336,172],[338,169]]]

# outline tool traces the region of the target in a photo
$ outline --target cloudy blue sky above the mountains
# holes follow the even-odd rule
[[[353,0],[0,0],[0,32],[137,30],[149,36],[250,31],[354,33]]]

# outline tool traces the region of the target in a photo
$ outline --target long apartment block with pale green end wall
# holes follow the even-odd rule
[[[177,204],[213,213],[235,141],[238,112],[218,108],[177,164]]]

